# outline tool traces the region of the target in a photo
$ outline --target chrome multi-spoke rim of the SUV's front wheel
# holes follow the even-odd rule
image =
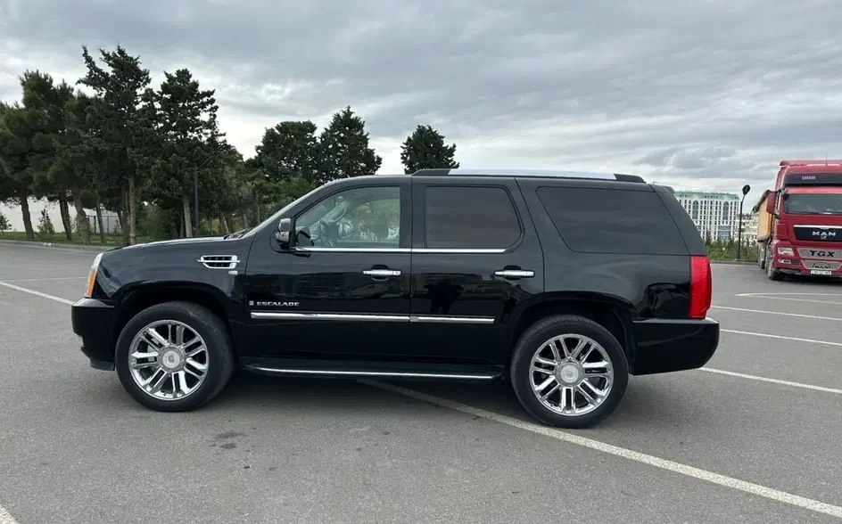
[[[208,348],[186,323],[159,320],[137,332],[128,350],[128,369],[150,397],[189,397],[208,374]]]

